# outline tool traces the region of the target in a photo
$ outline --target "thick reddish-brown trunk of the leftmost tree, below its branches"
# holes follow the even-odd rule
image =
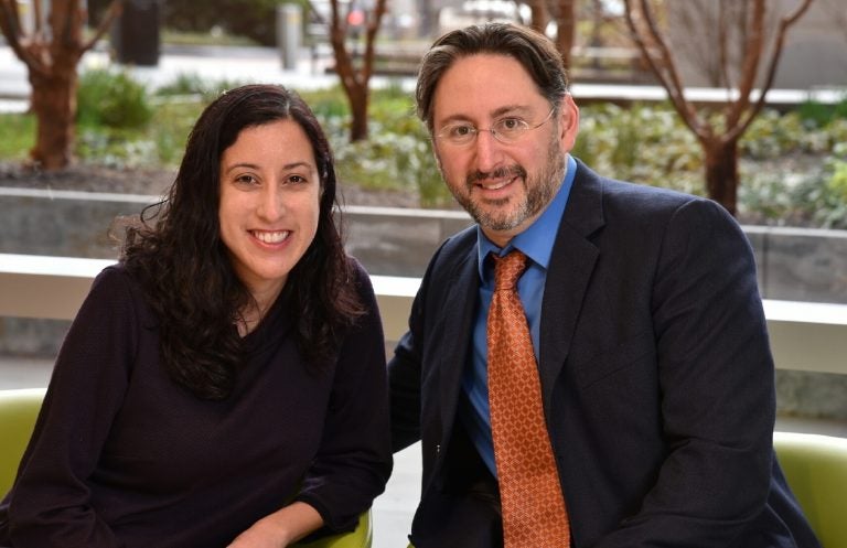
[[[32,161],[43,170],[60,170],[72,162],[76,128],[76,63],[57,60],[49,74],[30,73],[32,109],[37,118]]]

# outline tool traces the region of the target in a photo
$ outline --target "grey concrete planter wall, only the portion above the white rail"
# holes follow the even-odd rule
[[[0,189],[0,252],[114,259],[109,229],[149,196]],[[463,212],[350,206],[347,251],[371,273],[420,277]],[[847,303],[847,230],[744,226],[765,299]]]

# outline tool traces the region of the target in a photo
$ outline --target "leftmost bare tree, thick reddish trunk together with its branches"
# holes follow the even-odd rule
[[[106,33],[119,13],[120,2],[112,1],[107,17],[86,41],[83,0],[54,0],[46,20],[42,1],[32,0],[31,30],[25,29],[15,0],[0,0],[0,31],[29,72],[31,108],[37,120],[35,147],[30,158],[41,169],[60,170],[73,159],[76,66],[83,54]]]

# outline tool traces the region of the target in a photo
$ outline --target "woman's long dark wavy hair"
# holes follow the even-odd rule
[[[311,141],[321,180],[318,234],[289,273],[283,297],[297,314],[296,339],[308,363],[333,359],[344,330],[362,314],[335,214],[329,142],[308,105],[274,85],[226,92],[200,116],[168,196],[127,228],[122,261],[159,318],[162,363],[200,398],[224,399],[245,358],[235,329],[251,296],[221,240],[219,162],[245,128],[296,121]]]

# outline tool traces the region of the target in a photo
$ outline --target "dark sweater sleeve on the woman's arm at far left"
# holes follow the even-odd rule
[[[95,470],[133,361],[139,322],[129,279],[95,279],[62,344],[14,485],[0,505],[15,547],[120,547],[90,504]]]

